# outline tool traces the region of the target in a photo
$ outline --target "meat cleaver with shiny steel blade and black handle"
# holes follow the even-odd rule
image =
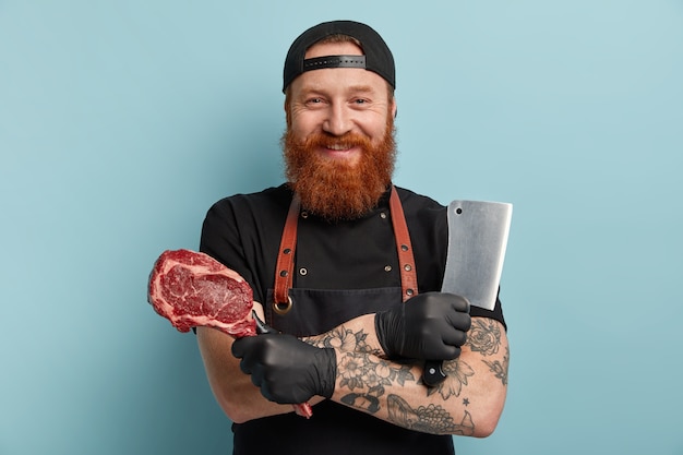
[[[453,201],[448,204],[448,252],[442,292],[470,306],[493,310],[503,272],[512,204]],[[441,360],[427,360],[422,381],[430,387],[446,379]]]

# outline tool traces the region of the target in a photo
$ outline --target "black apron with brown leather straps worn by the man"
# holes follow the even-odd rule
[[[297,223],[295,195],[283,231],[275,272],[275,289],[264,304],[272,327],[299,337],[319,335],[357,318],[387,309],[417,295],[412,247],[396,190],[390,197],[392,223],[402,272],[402,286],[372,289],[300,289],[292,287]],[[402,455],[454,454],[450,435],[406,430],[369,414],[324,400],[304,419],[293,412],[233,424],[233,454]]]

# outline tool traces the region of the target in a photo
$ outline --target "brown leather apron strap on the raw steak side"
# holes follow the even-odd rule
[[[297,248],[297,225],[301,202],[297,194],[291,199],[285,229],[280,239],[277,263],[275,265],[275,311],[286,313],[291,309],[289,289],[291,288],[295,268],[295,250]]]

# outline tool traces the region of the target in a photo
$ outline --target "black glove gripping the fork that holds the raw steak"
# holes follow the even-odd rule
[[[313,395],[329,398],[337,378],[337,356],[332,348],[316,348],[277,333],[248,336],[232,344],[240,369],[271,402],[297,404]]]

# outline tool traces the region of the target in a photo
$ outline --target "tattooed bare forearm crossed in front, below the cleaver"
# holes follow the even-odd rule
[[[428,387],[421,381],[423,361],[382,357],[371,316],[308,339],[337,351],[332,399],[421,432],[486,436],[493,431],[505,400],[510,357],[500,323],[475,319],[460,357],[444,362],[447,379]]]

